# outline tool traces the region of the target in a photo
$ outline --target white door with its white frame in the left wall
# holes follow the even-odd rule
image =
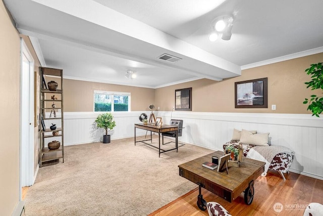
[[[20,191],[34,183],[34,61],[21,38]],[[20,196],[21,197],[21,196]]]

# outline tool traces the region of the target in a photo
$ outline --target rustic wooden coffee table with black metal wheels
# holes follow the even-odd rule
[[[211,170],[202,166],[205,161],[211,162],[212,156],[220,158],[223,155],[222,151],[216,151],[178,166],[181,177],[199,185],[197,205],[201,210],[206,209],[206,202],[201,195],[201,187],[229,202],[236,199],[242,192],[244,192],[246,204],[250,205],[253,200],[254,180],[264,171],[265,163],[244,157],[239,164],[240,167],[228,167],[229,174],[226,170],[218,172],[217,169]]]

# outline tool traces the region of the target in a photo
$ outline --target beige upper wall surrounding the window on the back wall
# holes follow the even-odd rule
[[[73,79],[64,79],[63,88],[64,112],[93,112],[95,90],[131,93],[131,111],[148,110],[149,104],[154,103],[154,90],[148,88]]]

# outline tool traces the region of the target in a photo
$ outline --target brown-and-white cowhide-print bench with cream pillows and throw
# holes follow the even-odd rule
[[[291,166],[293,161],[294,152],[283,146],[269,146],[266,143],[268,142],[268,135],[269,133],[256,134],[256,131],[245,131],[242,129],[242,132],[240,132],[237,129],[234,129],[233,140],[228,143],[225,143],[223,145],[223,150],[225,152],[228,146],[233,146],[234,148],[239,149],[239,143],[240,143],[243,149],[244,157],[249,157],[249,158],[258,159],[258,160],[261,160],[261,159],[257,157],[254,158],[254,155],[257,154],[257,152],[253,151],[252,153],[254,154],[250,154],[251,153],[249,152],[250,149],[252,148],[258,149],[258,151],[263,149],[263,150],[266,150],[267,152],[269,151],[269,153],[271,153],[271,151],[279,152],[269,157],[273,159],[271,159],[270,164],[268,163],[267,167],[265,166],[265,172],[262,174],[262,176],[266,176],[266,171],[268,168],[274,169],[279,172],[279,174],[282,176],[283,180],[285,181],[286,179],[284,177],[284,173],[286,172],[288,173],[289,167]],[[247,137],[249,136],[249,137],[246,139],[246,136]],[[250,137],[252,139],[250,139]],[[253,144],[253,142],[255,144]]]

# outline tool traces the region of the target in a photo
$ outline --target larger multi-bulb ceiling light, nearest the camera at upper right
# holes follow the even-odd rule
[[[212,32],[209,35],[208,39],[210,41],[216,41],[218,38],[218,35],[216,36],[216,33],[222,33],[221,38],[223,40],[230,40],[232,36],[232,33],[231,33],[232,26],[233,26],[233,16],[224,15],[224,16],[217,17],[211,22],[211,27],[214,30],[216,30],[216,32]]]

